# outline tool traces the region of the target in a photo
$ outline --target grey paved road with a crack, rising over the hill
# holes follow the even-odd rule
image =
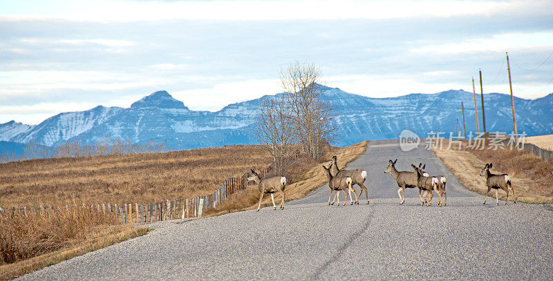
[[[383,173],[391,157],[400,170],[424,162],[429,173],[446,175],[447,206],[420,206],[415,189],[400,206],[397,185]],[[322,186],[283,211],[158,223],[148,235],[22,279],[552,280],[550,206],[482,206],[482,195],[423,146],[406,153],[393,141],[370,142],[348,168],[367,170],[371,204],[328,206]]]

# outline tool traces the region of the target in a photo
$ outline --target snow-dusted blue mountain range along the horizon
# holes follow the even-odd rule
[[[457,118],[462,130],[461,101],[465,106],[467,131],[476,132],[473,94],[463,90],[383,99],[354,95],[339,88],[324,87],[324,90],[322,99],[335,108],[338,128],[335,145],[338,146],[366,139],[397,138],[404,129],[413,130],[420,137],[426,137],[429,132],[444,132],[449,136],[449,132],[456,131]],[[135,143],[156,140],[174,150],[253,144],[249,125],[255,121],[256,106],[269,97],[229,104],[217,112],[209,112],[189,110],[182,101],[162,90],[136,101],[130,108],[97,106],[81,112],[60,113],[36,126],[13,121],[0,124],[0,141],[34,140],[56,146],[75,139],[80,139],[82,144],[93,144],[111,136]],[[484,99],[487,131],[511,132],[509,95],[493,93],[484,95]],[[477,101],[482,130],[479,97]],[[519,133],[553,133],[553,94],[534,100],[515,97],[514,103]]]

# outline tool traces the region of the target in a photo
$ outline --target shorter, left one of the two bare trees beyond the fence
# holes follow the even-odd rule
[[[267,97],[257,108],[257,119],[251,128],[256,139],[273,158],[274,172],[285,175],[287,157],[294,144],[294,124],[287,99],[283,96]]]

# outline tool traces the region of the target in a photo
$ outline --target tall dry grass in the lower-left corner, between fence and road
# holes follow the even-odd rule
[[[86,208],[28,217],[0,216],[0,280],[9,280],[148,231],[111,224],[117,224],[114,215]]]

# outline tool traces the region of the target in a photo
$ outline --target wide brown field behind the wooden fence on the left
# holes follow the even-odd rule
[[[0,206],[122,205],[194,197],[270,162],[261,146],[10,162],[0,164]]]

